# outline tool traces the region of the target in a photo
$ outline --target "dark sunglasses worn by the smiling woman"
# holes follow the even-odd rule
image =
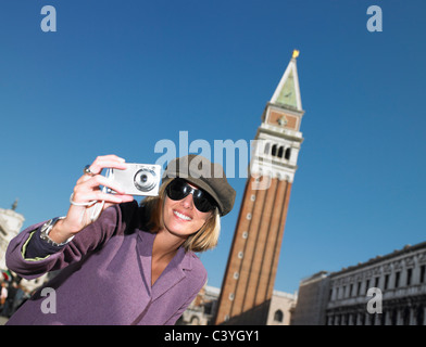
[[[216,208],[216,202],[206,192],[200,189],[193,189],[187,181],[175,178],[166,188],[167,196],[174,201],[183,200],[184,197],[192,194],[192,201],[196,208],[200,213],[208,213]]]

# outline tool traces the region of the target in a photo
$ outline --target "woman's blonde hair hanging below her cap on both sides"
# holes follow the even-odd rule
[[[162,184],[159,190],[158,196],[147,196],[140,203],[145,207],[145,216],[147,216],[146,226],[151,232],[158,232],[164,228],[163,222],[163,206],[166,196],[165,189],[171,183],[171,181]],[[205,223],[195,232],[189,235],[184,242],[183,246],[186,252],[205,252],[212,249],[217,245],[218,236],[221,233],[221,216],[218,208],[216,207],[211,216],[208,218]]]

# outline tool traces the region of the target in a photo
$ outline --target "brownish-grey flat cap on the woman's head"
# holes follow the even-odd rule
[[[212,195],[221,216],[233,209],[236,191],[228,183],[222,165],[211,163],[201,155],[189,154],[168,163],[163,174],[163,183],[176,177],[196,184]]]

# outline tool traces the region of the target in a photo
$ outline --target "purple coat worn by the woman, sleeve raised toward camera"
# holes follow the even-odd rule
[[[63,270],[45,287],[55,291],[55,313],[43,313],[49,296],[37,291],[8,324],[174,324],[206,281],[192,252],[180,247],[151,286],[155,234],[141,230],[136,202],[113,206],[46,259],[25,260],[22,248],[32,231],[11,241],[7,265],[25,279]],[[46,309],[45,309],[46,311]]]

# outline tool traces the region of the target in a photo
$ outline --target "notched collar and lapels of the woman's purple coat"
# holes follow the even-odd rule
[[[184,247],[179,247],[178,252],[155,281],[154,285],[151,286],[152,246],[155,235],[155,233],[139,230],[137,241],[140,272],[147,293],[149,293],[152,301],[185,279],[186,271],[192,269],[192,257],[185,252]]]

